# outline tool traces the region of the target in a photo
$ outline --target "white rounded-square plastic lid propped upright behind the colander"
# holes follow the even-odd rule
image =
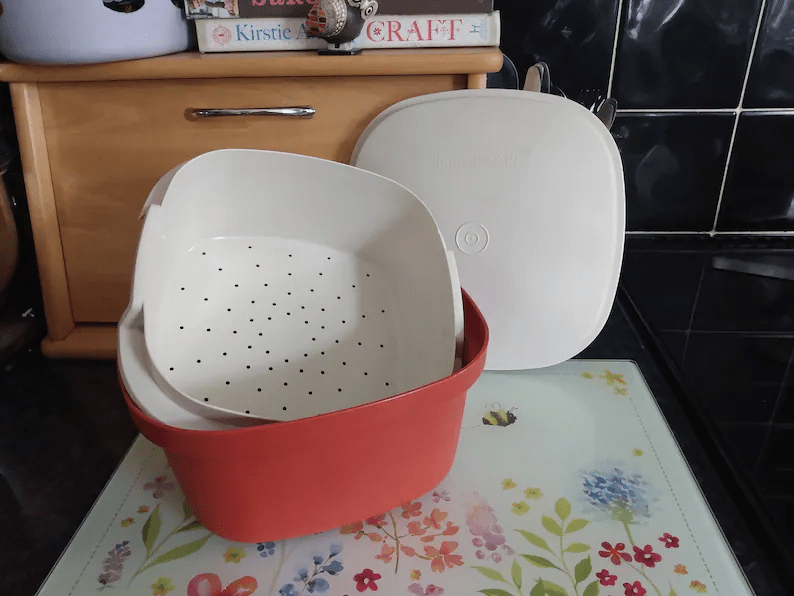
[[[623,169],[578,103],[494,89],[420,96],[381,113],[351,163],[430,209],[488,322],[486,368],[557,364],[603,328],[623,256]]]

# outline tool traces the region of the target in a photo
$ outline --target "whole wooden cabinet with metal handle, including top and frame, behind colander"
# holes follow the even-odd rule
[[[72,67],[0,64],[10,84],[47,317],[43,352],[113,358],[141,207],[174,166],[221,148],[348,162],[388,106],[485,86],[498,48],[185,53]],[[311,106],[310,119],[190,118],[200,108]]]

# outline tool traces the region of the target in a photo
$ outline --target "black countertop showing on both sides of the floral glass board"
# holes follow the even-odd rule
[[[786,551],[709,439],[623,292],[579,358],[635,361],[759,596],[794,593]],[[0,594],[35,594],[136,436],[113,362],[35,351],[0,373]],[[787,567],[786,565],[789,564]]]

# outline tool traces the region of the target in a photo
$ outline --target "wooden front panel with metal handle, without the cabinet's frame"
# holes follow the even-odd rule
[[[364,128],[385,108],[466,83],[466,75],[426,75],[40,84],[74,320],[115,322],[121,316],[138,214],[175,165],[223,148],[347,163]],[[289,106],[312,106],[316,114],[186,117],[189,109]]]

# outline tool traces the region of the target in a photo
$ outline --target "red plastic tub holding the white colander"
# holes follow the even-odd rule
[[[425,494],[447,475],[466,392],[482,373],[488,327],[463,293],[464,366],[376,402],[290,422],[224,431],[167,426],[138,409],[132,418],[165,450],[198,520],[238,542],[331,530]]]

